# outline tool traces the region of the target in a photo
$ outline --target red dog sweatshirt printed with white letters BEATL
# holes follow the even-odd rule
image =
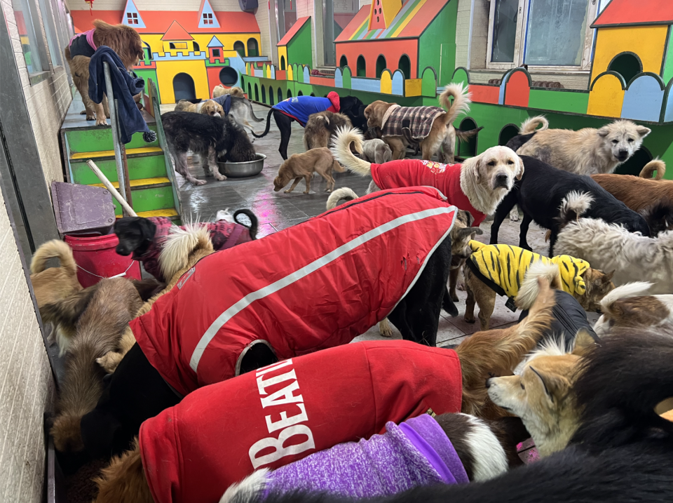
[[[428,409],[460,412],[461,379],[455,351],[407,341],[280,361],[203,387],[145,421],[147,483],[156,503],[214,503],[255,469],[381,434],[386,422]]]

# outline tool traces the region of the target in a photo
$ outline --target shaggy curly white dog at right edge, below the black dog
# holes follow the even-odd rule
[[[583,258],[599,269],[614,269],[617,286],[649,281],[651,293],[673,293],[673,231],[650,238],[618,224],[583,217],[594,204],[591,194],[566,196],[559,215],[557,251]]]

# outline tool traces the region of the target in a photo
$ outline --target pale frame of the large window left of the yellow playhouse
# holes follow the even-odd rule
[[[582,51],[582,61],[580,65],[530,65],[524,63],[526,34],[528,32],[528,18],[531,6],[531,0],[519,0],[519,11],[517,13],[517,34],[514,44],[513,62],[491,62],[493,55],[493,25],[496,13],[496,0],[491,0],[489,7],[489,33],[486,46],[486,67],[494,70],[508,70],[526,65],[529,69],[537,72],[587,72],[591,69],[592,51],[594,46],[594,29],[591,24],[599,13],[599,0],[587,0],[589,10],[587,12],[587,26],[584,34],[584,48]]]

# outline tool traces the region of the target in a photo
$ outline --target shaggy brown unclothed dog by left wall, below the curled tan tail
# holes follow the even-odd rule
[[[131,281],[103,279],[76,326],[76,336],[65,354],[65,377],[51,427],[54,445],[61,452],[79,452],[84,445],[79,423],[93,410],[103,391],[100,358],[117,347],[128,322],[142,305]]]

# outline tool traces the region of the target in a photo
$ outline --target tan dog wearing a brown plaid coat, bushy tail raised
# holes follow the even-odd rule
[[[421,145],[421,156],[431,161],[440,147],[450,152],[453,162],[456,130],[453,122],[470,110],[470,93],[462,83],[451,83],[440,94],[440,107],[400,107],[395,103],[377,100],[365,108],[367,127],[381,128],[383,140],[393,150],[393,160],[404,159],[409,142],[402,134],[405,120],[410,121],[413,138]],[[449,98],[454,98],[453,105]]]

